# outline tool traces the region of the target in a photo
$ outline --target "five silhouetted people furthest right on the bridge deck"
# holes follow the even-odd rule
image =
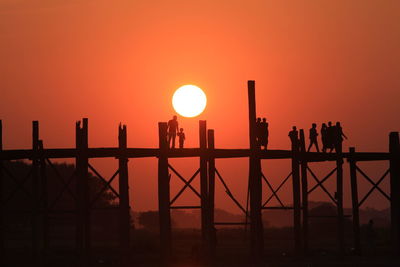
[[[330,149],[330,153],[333,151],[333,149],[338,152],[344,140],[343,138],[347,139],[340,122],[336,122],[335,125],[333,125],[331,121],[328,122],[328,125],[326,123],[322,123],[320,133],[322,152],[324,153],[327,152],[328,149]],[[307,152],[309,152],[313,146],[315,146],[317,152],[320,151],[318,146],[318,135],[317,124],[313,123],[309,131],[310,145],[308,146]],[[292,141],[292,144],[296,144],[298,142],[299,137],[296,126],[293,126],[292,130],[289,132],[289,138]]]

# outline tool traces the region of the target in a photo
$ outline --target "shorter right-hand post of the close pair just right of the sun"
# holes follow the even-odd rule
[[[210,240],[210,256],[215,255],[217,236],[214,225],[214,207],[215,207],[215,158],[214,158],[214,130],[207,131],[208,143],[208,224]]]

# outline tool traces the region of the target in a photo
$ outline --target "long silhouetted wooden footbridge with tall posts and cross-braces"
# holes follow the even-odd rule
[[[372,191],[379,191],[390,202],[391,207],[391,238],[394,251],[399,251],[400,244],[400,146],[399,133],[391,132],[389,134],[388,152],[356,152],[355,148],[350,148],[348,152],[342,151],[339,147],[335,153],[317,153],[306,152],[304,131],[300,130],[300,142],[292,144],[291,150],[260,150],[256,141],[256,102],[255,102],[255,83],[248,81],[248,104],[249,104],[249,141],[248,149],[216,149],[214,147],[214,130],[207,129],[206,121],[199,121],[199,148],[169,149],[166,140],[167,123],[158,124],[159,148],[128,148],[127,147],[127,128],[119,127],[119,146],[112,148],[89,148],[88,147],[88,120],[76,124],[76,147],[68,149],[48,149],[44,148],[43,141],[39,137],[39,124],[33,122],[32,149],[3,150],[2,130],[0,121],[0,183],[3,179],[11,178],[12,174],[3,165],[4,161],[9,160],[30,160],[32,170],[27,179],[32,179],[31,200],[33,203],[32,216],[32,248],[33,254],[37,255],[41,250],[46,250],[48,244],[48,224],[45,222],[47,216],[55,210],[51,210],[46,200],[46,177],[45,169],[52,163],[50,159],[73,158],[75,159],[76,172],[78,178],[76,184],[76,249],[82,260],[87,259],[91,249],[91,222],[90,214],[92,211],[91,199],[88,188],[89,172],[94,173],[104,182],[104,190],[111,189],[119,198],[119,244],[121,258],[127,262],[130,248],[130,210],[129,190],[128,190],[128,159],[155,157],[158,158],[158,203],[160,218],[160,242],[161,252],[164,258],[168,259],[171,255],[171,209],[200,209],[201,210],[201,232],[202,248],[206,257],[212,257],[216,250],[216,232],[215,226],[221,224],[247,224],[250,225],[251,253],[252,258],[257,259],[263,254],[263,223],[261,214],[263,209],[291,209],[293,210],[294,225],[294,244],[295,252],[298,255],[304,255],[308,251],[308,196],[316,188],[321,188],[337,207],[337,227],[338,227],[338,249],[344,253],[344,214],[343,214],[343,164],[346,162],[350,166],[351,179],[351,197],[352,197],[352,222],[354,232],[354,248],[356,253],[361,253],[360,245],[360,220],[359,207],[369,197]],[[177,172],[168,160],[170,158],[199,158],[199,168],[189,179],[184,178]],[[117,172],[110,178],[105,179],[90,165],[89,159],[93,158],[115,158],[119,162]],[[218,158],[248,158],[249,159],[249,207],[240,204],[230,193],[229,188],[223,182],[223,179],[216,168],[215,159]],[[282,180],[278,188],[274,189],[268,179],[262,172],[261,161],[264,159],[291,159],[290,174]],[[332,161],[336,167],[322,179],[318,178],[309,168],[310,162]],[[388,161],[389,169],[379,179],[374,180],[363,172],[358,162],[363,161]],[[184,187],[174,197],[170,195],[170,172],[177,175],[184,182]],[[324,186],[324,182],[330,177],[336,175],[336,192],[332,195]],[[191,183],[197,177],[200,177],[200,190],[195,189]],[[112,180],[118,177],[118,189],[112,188]],[[384,192],[379,184],[386,178],[390,179],[390,192]],[[372,189],[359,200],[357,181],[366,179],[372,186]],[[220,179],[226,187],[228,196],[245,213],[245,222],[215,222],[214,220],[214,197],[215,181]],[[317,183],[309,188],[308,181],[315,180]],[[293,205],[287,207],[279,199],[278,192],[283,184],[292,181]],[[266,183],[272,192],[272,196],[263,203],[262,188]],[[3,186],[0,187],[1,189]],[[22,190],[19,185],[16,190]],[[67,188],[65,188],[67,190]],[[200,203],[198,206],[175,206],[175,200],[185,190],[191,190],[196,194]],[[4,218],[9,210],[6,208],[7,196],[0,190],[1,211],[0,223],[2,232],[0,233],[0,250],[2,256],[7,251],[7,244],[4,238]],[[43,197],[44,196],[44,197]],[[269,200],[275,197],[280,206],[268,206]],[[135,207],[132,207],[134,209]],[[62,211],[59,211],[62,212]],[[40,238],[39,232],[42,228],[43,238]]]

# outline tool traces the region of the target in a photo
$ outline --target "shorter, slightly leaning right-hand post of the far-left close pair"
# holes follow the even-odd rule
[[[46,256],[49,248],[49,224],[48,224],[48,191],[47,191],[47,174],[46,161],[43,156],[43,140],[39,140],[39,161],[40,161],[40,180],[41,180],[41,210],[42,210],[42,240],[43,255]]]

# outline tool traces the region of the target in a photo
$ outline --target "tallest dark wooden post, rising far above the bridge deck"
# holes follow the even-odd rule
[[[251,254],[254,260],[262,256],[264,249],[263,225],[261,217],[261,160],[258,156],[258,146],[256,140],[256,92],[255,82],[248,81],[248,101],[249,101],[249,185],[250,185],[250,235],[251,235]]]

